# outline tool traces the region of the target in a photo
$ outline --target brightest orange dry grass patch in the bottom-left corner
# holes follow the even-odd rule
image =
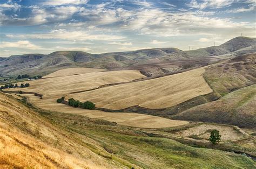
[[[93,168],[79,157],[18,132],[0,129],[0,168]]]

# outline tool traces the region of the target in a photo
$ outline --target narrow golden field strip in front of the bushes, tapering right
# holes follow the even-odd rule
[[[22,94],[27,96],[30,101],[39,108],[51,111],[66,112],[71,114],[79,114],[90,118],[105,119],[110,122],[116,122],[120,125],[129,125],[138,128],[165,128],[187,124],[187,121],[176,121],[158,116],[150,116],[133,112],[104,112],[100,110],[86,110],[73,108],[69,105],[56,103],[56,100],[43,99],[31,94]]]

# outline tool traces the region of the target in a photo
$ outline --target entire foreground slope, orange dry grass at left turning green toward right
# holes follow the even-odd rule
[[[232,152],[151,138],[100,119],[44,111],[2,93],[0,105],[0,167],[255,167],[252,159]]]

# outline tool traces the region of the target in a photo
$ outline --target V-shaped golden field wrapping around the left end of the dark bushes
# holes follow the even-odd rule
[[[121,125],[129,125],[140,128],[163,128],[188,123],[187,121],[174,121],[157,116],[143,115],[124,112],[104,112],[100,110],[85,110],[72,108],[65,104],[56,103],[57,98],[68,95],[70,92],[97,88],[100,85],[117,82],[127,82],[134,79],[144,78],[138,71],[109,71],[93,72],[80,75],[63,76],[58,78],[39,79],[29,81],[30,87],[22,88],[22,91],[31,91],[43,94],[43,99],[33,94],[23,94],[37,107],[67,113],[75,113],[91,118],[106,119]],[[24,82],[26,83],[26,82]],[[6,90],[21,90],[13,88]]]

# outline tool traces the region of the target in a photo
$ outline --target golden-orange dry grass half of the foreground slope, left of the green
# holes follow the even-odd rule
[[[0,93],[0,168],[116,166],[80,145],[78,139],[95,144],[90,138],[52,125],[37,112]]]

